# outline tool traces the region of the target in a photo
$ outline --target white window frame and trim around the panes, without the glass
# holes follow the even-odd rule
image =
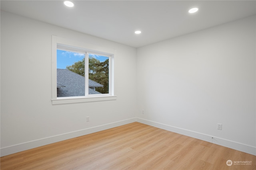
[[[84,53],[87,55],[86,64],[88,64],[88,53],[104,55],[109,57],[109,93],[108,94],[88,94],[88,81],[86,81],[85,96],[58,97],[57,98],[57,49]],[[114,94],[114,57],[116,50],[106,47],[99,47],[88,43],[73,41],[70,39],[52,35],[52,104],[70,104],[81,102],[96,102],[104,100],[116,100]],[[88,68],[86,67],[85,76],[88,79]]]

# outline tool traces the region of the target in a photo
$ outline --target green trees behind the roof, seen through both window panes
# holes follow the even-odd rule
[[[66,66],[66,69],[84,76],[84,59],[78,61],[71,66]],[[97,87],[95,90],[102,94],[108,94],[109,87],[109,60],[100,62],[94,57],[89,57],[88,74],[89,79],[102,84],[104,87]]]

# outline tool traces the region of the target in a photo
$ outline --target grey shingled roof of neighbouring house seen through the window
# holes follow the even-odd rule
[[[85,96],[84,94],[84,76],[67,69],[57,68],[57,97]],[[102,84],[88,81],[89,87],[103,87]],[[91,88],[88,88],[89,94],[101,94]]]

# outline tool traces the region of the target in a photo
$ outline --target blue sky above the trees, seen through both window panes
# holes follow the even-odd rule
[[[75,53],[64,50],[57,50],[57,68],[65,69],[66,66],[71,66],[75,62],[81,61],[84,59],[85,55],[81,53]],[[108,57],[101,55],[89,54],[89,57],[94,57],[100,62],[105,61]]]

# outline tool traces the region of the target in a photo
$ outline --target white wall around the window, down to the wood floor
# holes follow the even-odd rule
[[[117,100],[52,105],[52,35],[116,49]],[[135,48],[1,11],[1,156],[136,121],[135,63]]]

